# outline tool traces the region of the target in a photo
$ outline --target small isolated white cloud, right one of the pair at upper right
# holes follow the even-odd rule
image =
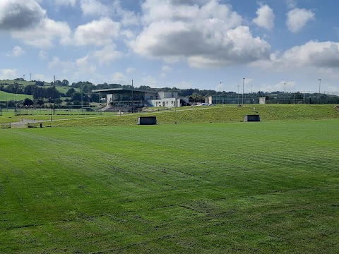
[[[287,28],[291,32],[299,32],[311,20],[314,20],[314,13],[306,9],[295,8],[287,13]]]

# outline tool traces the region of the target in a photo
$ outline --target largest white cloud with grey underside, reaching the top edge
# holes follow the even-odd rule
[[[145,26],[129,44],[131,48],[143,56],[164,60],[186,58],[194,67],[247,63],[268,57],[270,45],[241,26],[242,18],[230,6],[216,0],[203,1],[205,4],[200,6],[193,3],[145,1]]]

